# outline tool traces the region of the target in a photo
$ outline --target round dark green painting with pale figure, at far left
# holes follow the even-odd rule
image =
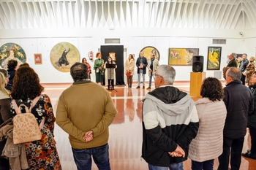
[[[26,62],[26,54],[20,45],[9,42],[0,47],[0,64],[7,69],[7,63],[10,60],[18,61],[18,66]]]

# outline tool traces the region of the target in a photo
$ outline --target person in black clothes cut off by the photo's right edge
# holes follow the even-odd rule
[[[249,128],[249,134],[251,136],[251,150],[247,150],[242,155],[246,158],[256,159],[256,72],[252,74],[252,94],[254,97],[254,111],[248,115],[247,127]]]

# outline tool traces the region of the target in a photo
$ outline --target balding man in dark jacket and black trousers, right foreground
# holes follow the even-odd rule
[[[232,170],[239,170],[241,164],[247,117],[254,107],[252,93],[249,88],[241,84],[240,79],[241,72],[237,67],[227,69],[227,85],[224,88],[223,99],[227,108],[227,117],[223,129],[223,152],[219,156],[218,170],[228,169],[229,158]]]

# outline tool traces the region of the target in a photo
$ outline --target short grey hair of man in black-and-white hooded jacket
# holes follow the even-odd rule
[[[165,83],[173,85],[173,82],[176,76],[176,71],[175,69],[173,69],[172,66],[160,65],[157,69],[157,74],[162,76]]]

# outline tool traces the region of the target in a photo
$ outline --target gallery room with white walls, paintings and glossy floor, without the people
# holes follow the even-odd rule
[[[143,51],[150,60],[154,51],[160,65],[167,64],[176,70],[173,86],[197,101],[204,78],[216,77],[225,87],[222,69],[227,66],[227,55],[246,53],[247,59],[255,57],[256,1],[0,0],[3,68],[7,66],[4,61],[10,57],[10,50],[20,63],[29,63],[37,72],[55,115],[59,96],[73,82],[70,67],[86,58],[91,66],[91,81],[95,82],[96,54],[102,53],[104,61],[112,55],[117,66],[116,85],[109,93],[117,115],[109,126],[110,166],[113,170],[148,169],[141,158],[142,99],[155,85],[153,79],[151,89],[146,89],[146,69],[146,88],[142,83],[136,88],[135,66],[132,88],[128,88],[124,64],[129,54],[136,61]],[[59,63],[63,53],[67,53],[67,63]],[[198,72],[192,69],[195,56],[201,56],[197,61]],[[103,87],[108,88],[105,84]],[[88,100],[85,96],[78,104]],[[62,169],[77,169],[68,134],[55,124],[54,136]],[[248,134],[243,152],[250,149],[247,138]],[[96,170],[92,162],[92,169]],[[214,169],[218,165],[215,158]],[[191,169],[189,158],[184,161],[184,169]],[[256,169],[256,161],[241,157],[240,169]]]

